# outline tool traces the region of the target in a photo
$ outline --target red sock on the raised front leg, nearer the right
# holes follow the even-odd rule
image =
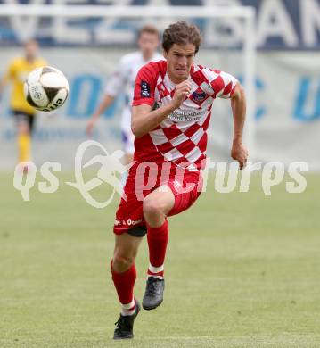
[[[148,226],[147,239],[150,261],[148,276],[163,278],[163,264],[168,244],[168,220],[166,219],[160,228]]]

